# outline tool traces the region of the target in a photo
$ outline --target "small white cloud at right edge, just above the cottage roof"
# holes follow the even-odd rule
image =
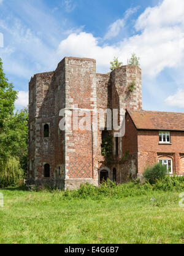
[[[165,99],[165,103],[172,107],[184,107],[184,89],[178,89],[175,95]]]

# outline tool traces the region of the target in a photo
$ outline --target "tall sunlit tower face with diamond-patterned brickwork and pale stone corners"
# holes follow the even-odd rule
[[[85,123],[86,115],[91,117],[96,108],[96,61],[88,58],[66,59],[66,109],[79,109],[79,124]],[[93,115],[93,114],[92,114]],[[74,117],[71,117],[72,124]],[[75,187],[76,181],[95,182],[93,130],[71,129],[66,136],[66,186]]]

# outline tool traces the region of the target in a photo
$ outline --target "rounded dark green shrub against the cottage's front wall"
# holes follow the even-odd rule
[[[150,182],[150,184],[154,184],[156,180],[164,179],[166,174],[166,165],[161,165],[161,163],[157,163],[154,166],[146,168],[143,176],[148,182]]]

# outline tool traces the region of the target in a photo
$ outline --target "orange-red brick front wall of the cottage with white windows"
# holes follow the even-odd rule
[[[171,158],[173,171],[183,174],[184,133],[171,131],[171,144],[159,144],[159,131],[138,131],[138,169],[142,173],[149,165],[158,163],[158,158]]]

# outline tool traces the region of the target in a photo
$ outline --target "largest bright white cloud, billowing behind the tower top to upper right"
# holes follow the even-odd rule
[[[180,10],[177,10],[180,9]],[[174,14],[172,14],[174,12]],[[106,71],[113,56],[126,64],[135,52],[140,56],[144,76],[156,77],[164,68],[176,68],[184,59],[183,0],[164,0],[156,7],[148,7],[136,21],[137,34],[118,44],[99,45],[99,39],[90,33],[72,33],[61,41],[61,56],[96,58],[98,68]],[[172,14],[172,15],[171,15]],[[171,20],[169,20],[171,15]],[[120,25],[120,21],[117,21]],[[113,31],[113,29],[112,29]]]

